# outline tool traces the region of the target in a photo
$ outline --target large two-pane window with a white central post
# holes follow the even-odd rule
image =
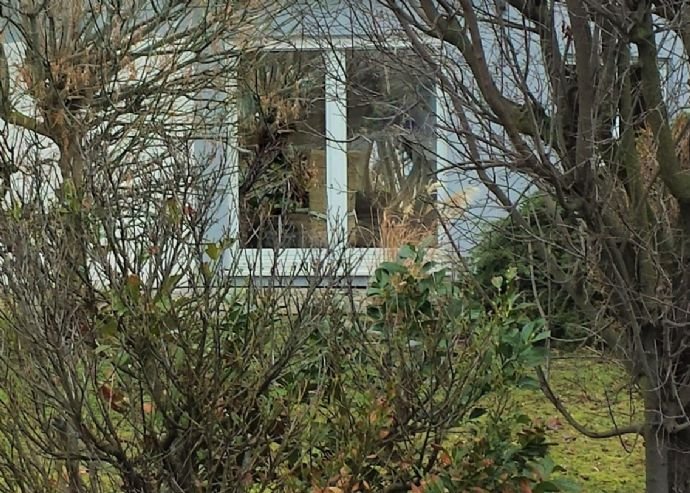
[[[408,50],[276,50],[237,83],[244,251],[435,244],[436,87]]]

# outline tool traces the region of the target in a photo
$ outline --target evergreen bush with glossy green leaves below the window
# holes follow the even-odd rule
[[[509,290],[490,309],[473,299],[423,250],[380,265],[366,316],[318,341],[333,385],[284,491],[573,491],[549,480],[543,430],[510,399],[533,386],[548,334],[512,317]]]

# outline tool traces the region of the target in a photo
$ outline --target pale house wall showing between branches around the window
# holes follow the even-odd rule
[[[145,4],[146,2],[144,2]],[[142,5],[144,5],[142,4]],[[143,7],[142,7],[143,8]],[[354,38],[367,38],[372,29],[375,28],[376,22],[381,22],[382,17],[366,15],[362,9],[369,8],[368,2],[350,2],[347,0],[328,0],[324,2],[310,2],[308,0],[299,1],[276,1],[272,3],[272,10],[266,12],[264,19],[264,26],[261,32],[264,34],[258,36],[259,38],[268,39],[270,36],[278,35],[292,36],[299,38],[300,36],[312,36],[318,42],[325,45],[330,43],[330,37],[335,35],[339,39],[347,40]],[[517,14],[510,9],[507,10],[506,16],[518,18]],[[385,25],[392,26],[389,18],[383,18]],[[558,23],[557,23],[558,24]],[[394,29],[394,27],[391,27]],[[510,71],[512,63],[505,63],[505,54],[499,48],[499,36],[495,30],[495,26],[488,24],[482,27],[485,44],[485,54],[489,60],[490,67],[494,71],[497,80],[501,83],[503,91],[520,100],[523,93],[517,84],[517,74]],[[258,30],[257,30],[258,32]],[[520,35],[524,34],[520,32]],[[517,34],[516,34],[517,36]],[[9,36],[12,38],[12,36]],[[295,38],[293,38],[295,39]],[[516,43],[522,46],[523,53],[518,55],[518,62],[527,67],[526,61],[529,59],[529,72],[527,80],[529,81],[529,89],[542,101],[547,108],[550,108],[551,102],[548,96],[548,88],[546,87],[546,76],[543,63],[540,59],[540,50],[538,42],[534,36],[524,40],[522,38],[515,39]],[[668,56],[670,59],[670,70],[668,80],[665,81],[668,90],[667,103],[671,114],[675,114],[681,109],[688,106],[688,93],[690,88],[685,83],[688,79],[688,65],[684,60],[681,44],[679,40],[672,34],[660,33],[658,35],[658,43],[661,46],[660,56]],[[10,63],[14,70],[18,70],[21,64],[22,46],[20,43],[9,42],[6,43],[6,50],[10,58]],[[461,67],[461,60],[458,60],[458,66]],[[145,59],[140,59],[136,67],[136,83],[146,83],[147,79],[155,78],[156,68],[155,63],[151,61],[146,62]],[[455,76],[463,80],[463,83],[472,88],[475,84],[471,77],[467,77],[462,73],[462,69]],[[122,84],[133,83],[130,80],[129,74],[124,74]],[[16,84],[13,79],[13,84]],[[475,88],[476,89],[476,88]],[[13,102],[18,108],[30,115],[35,115],[35,108],[31,101],[26,98],[21,98],[21,88],[15,87]],[[193,151],[195,159],[198,160],[198,165],[206,167],[209,171],[221,170],[218,186],[222,189],[229,189],[231,187],[231,174],[229,165],[231,160],[230,151],[226,146],[221,145],[223,141],[227,140],[230,128],[223,127],[227,123],[227,112],[224,109],[225,103],[228,102],[228,95],[222,91],[212,92],[206,91],[203,95],[206,100],[215,100],[214,107],[206,107],[203,113],[199,113],[196,108],[193,110],[191,106],[195,103],[182,97],[176,100],[175,105],[178,106],[180,113],[196,112],[202,115],[201,118],[206,121],[214,121],[218,124],[218,135],[208,136],[205,139],[196,139],[193,143],[190,142],[190,149]],[[200,110],[199,110],[200,111]],[[449,121],[453,123],[452,110],[447,112]],[[135,115],[129,115],[123,118],[134,118]],[[470,115],[471,118],[471,115]],[[123,120],[122,123],[125,123]],[[173,126],[175,124],[187,123],[184,118],[176,121],[171,118],[166,122],[166,132],[174,132]],[[473,131],[486,137],[495,137],[496,131],[489,126],[482,126],[479,121],[475,121],[472,125]],[[2,139],[15,150],[17,161],[22,162],[22,159],[27,158],[32,161],[38,159],[44,160],[45,164],[41,166],[41,180],[40,187],[37,190],[36,180],[32,179],[35,176],[35,169],[24,170],[24,173],[17,173],[13,179],[13,186],[17,190],[22,190],[25,194],[38,194],[46,200],[50,200],[54,196],[54,188],[59,179],[59,173],[54,165],[57,156],[56,147],[46,139],[36,139],[35,136],[29,134],[14,126],[4,126],[0,123],[0,132],[2,132]],[[180,128],[180,136],[182,138],[184,129]],[[498,133],[500,135],[500,132]],[[165,152],[162,149],[157,149],[157,144],[151,136],[142,137],[136,155],[127,155],[120,167],[121,177],[127,177],[131,173],[123,172],[128,167],[136,168],[139,160],[146,159],[149,161],[156,160],[161,154]],[[124,140],[123,140],[124,142]],[[482,149],[484,157],[491,157],[493,160],[500,162],[501,159],[506,158],[501,151],[501,142],[496,142],[496,145],[486,145]],[[500,217],[505,214],[503,209],[495,202],[493,197],[489,195],[485,186],[477,178],[476,173],[471,170],[470,160],[467,158],[467,151],[464,143],[457,138],[449,138],[448,147],[452,151],[450,162],[458,165],[457,170],[453,173],[448,173],[445,177],[447,181],[447,193],[453,193],[459,190],[466,190],[471,198],[471,204],[465,217],[456,224],[456,240],[463,250],[471,247],[478,228],[481,227],[488,219]],[[29,172],[30,171],[30,172]],[[525,191],[530,186],[528,177],[520,176],[515,173],[509,173],[500,167],[493,169],[491,173],[495,176],[495,182],[511,197],[511,199],[518,200],[524,195]],[[163,169],[159,170],[160,176],[164,176]],[[150,178],[150,177],[148,177]],[[136,187],[136,180],[126,180],[124,185]],[[227,232],[227,224],[231,221],[233,213],[230,200],[227,194],[220,195],[212,208],[212,213],[215,217],[215,222],[209,231],[209,239],[221,238]],[[137,234],[146,228],[146,224],[132,226]],[[138,229],[137,229],[138,228]]]

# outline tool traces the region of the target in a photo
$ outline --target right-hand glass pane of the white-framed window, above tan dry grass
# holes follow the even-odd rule
[[[347,58],[348,228],[355,247],[436,240],[434,87],[416,58]]]

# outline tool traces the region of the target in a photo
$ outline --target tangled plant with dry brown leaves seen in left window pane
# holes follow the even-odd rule
[[[245,219],[250,243],[299,241],[294,237],[299,216],[309,215],[319,180],[318,162],[312,159],[318,147],[314,137],[325,133],[310,125],[318,118],[323,90],[318,77],[299,53],[269,53],[248,67],[240,81],[240,196],[247,215],[253,216]],[[267,229],[273,230],[273,238],[261,238]]]

